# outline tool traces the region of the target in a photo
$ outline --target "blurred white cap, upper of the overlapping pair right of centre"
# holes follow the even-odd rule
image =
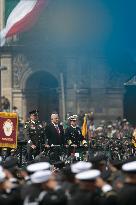
[[[92,167],[91,162],[79,161],[79,162],[71,165],[71,172],[76,174],[76,173],[80,173],[80,172],[84,172],[86,170],[89,170],[89,169],[91,169],[91,167]]]

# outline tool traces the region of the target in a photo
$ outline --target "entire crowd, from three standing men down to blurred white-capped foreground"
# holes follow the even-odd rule
[[[48,124],[37,110],[29,114],[22,126],[23,158],[18,148],[1,155],[0,204],[135,204],[136,130],[126,119],[96,126],[85,115],[83,136],[77,115],[64,129],[57,113]]]

